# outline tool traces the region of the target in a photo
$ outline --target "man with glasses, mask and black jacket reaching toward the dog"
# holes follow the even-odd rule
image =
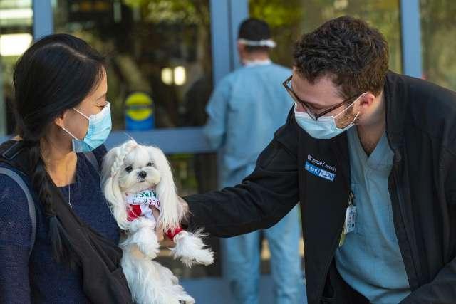
[[[254,172],[187,196],[188,224],[234,236],[300,201],[309,303],[455,303],[456,93],[389,71],[348,16],[302,36],[283,84],[295,105]]]

